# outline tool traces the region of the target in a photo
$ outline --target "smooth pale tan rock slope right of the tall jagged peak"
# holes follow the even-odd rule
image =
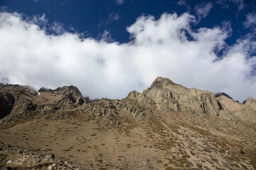
[[[242,105],[238,102],[235,102],[232,98],[229,98],[227,96],[221,95],[217,97],[217,100],[221,103],[223,103],[228,110],[230,110],[232,113],[235,113],[239,108],[242,107]]]

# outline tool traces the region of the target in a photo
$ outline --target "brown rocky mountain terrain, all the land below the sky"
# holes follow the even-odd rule
[[[0,169],[255,170],[256,100],[162,77],[121,100],[0,84]]]

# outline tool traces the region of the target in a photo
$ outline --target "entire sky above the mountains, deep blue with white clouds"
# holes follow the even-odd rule
[[[0,82],[122,99],[157,77],[256,99],[256,0],[0,0]]]

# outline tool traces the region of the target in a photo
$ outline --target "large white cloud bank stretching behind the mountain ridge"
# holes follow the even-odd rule
[[[128,26],[131,41],[80,39],[65,31],[46,34],[17,13],[0,13],[0,80],[57,88],[76,85],[84,96],[123,98],[142,92],[157,77],[168,77],[188,88],[225,92],[242,102],[256,98],[256,56],[252,35],[229,46],[228,23],[191,30],[195,17],[184,13],[141,16]],[[193,40],[189,41],[189,34]],[[217,57],[215,49],[223,49]]]

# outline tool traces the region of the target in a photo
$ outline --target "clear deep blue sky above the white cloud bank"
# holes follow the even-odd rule
[[[195,7],[206,4],[210,4],[209,13],[193,28],[212,28],[230,21],[233,32],[228,43],[235,43],[237,37],[250,32],[242,22],[248,13],[256,10],[255,0],[2,0],[1,5],[28,16],[45,14],[49,23],[61,23],[67,31],[74,28],[88,37],[98,38],[107,30],[113,40],[122,43],[129,41],[126,27],[143,14],[156,18],[164,12],[196,15]]]

